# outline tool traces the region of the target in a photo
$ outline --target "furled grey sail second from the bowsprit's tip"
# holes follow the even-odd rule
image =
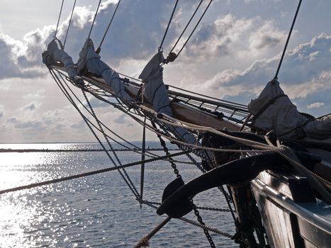
[[[120,81],[120,77],[117,72],[108,67],[108,65],[101,60],[101,56],[94,51],[94,44],[90,38],[86,39],[82,51],[79,52],[79,60],[77,62],[78,71],[81,71],[84,67],[89,72],[100,75],[115,91],[116,96],[123,101],[130,102],[132,99],[125,91],[125,86]]]

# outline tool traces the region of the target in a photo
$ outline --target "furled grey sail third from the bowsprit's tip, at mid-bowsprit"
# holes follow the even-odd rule
[[[169,116],[174,116],[170,107],[167,88],[163,82],[163,67],[160,64],[164,61],[162,52],[157,52],[142,70],[139,78],[142,79],[142,94],[147,101],[152,103],[153,108],[157,113],[164,113]],[[196,138],[187,132],[184,128],[169,127],[181,137],[181,140],[190,144],[196,143]]]

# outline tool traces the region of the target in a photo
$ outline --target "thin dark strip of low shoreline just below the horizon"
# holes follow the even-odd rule
[[[132,150],[141,151],[141,149],[133,148]],[[114,152],[129,152],[132,151],[130,149],[113,149],[107,151],[114,151]],[[147,151],[162,151],[162,148],[148,148]],[[168,150],[179,150],[179,149],[168,149]],[[54,149],[0,149],[1,152],[103,152],[103,149],[77,149],[77,150],[54,150]]]

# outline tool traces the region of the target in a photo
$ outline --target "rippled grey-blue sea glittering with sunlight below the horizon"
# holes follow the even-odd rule
[[[156,147],[157,143],[148,143]],[[115,148],[116,145],[114,145]],[[96,143],[0,144],[0,149],[99,149]],[[162,151],[153,151],[164,155]],[[140,154],[117,152],[122,164]],[[188,161],[186,157],[176,157]],[[176,163],[184,181],[201,174],[190,164]],[[105,152],[0,152],[0,190],[111,167]],[[126,169],[140,191],[140,166]],[[160,202],[175,179],[169,162],[145,165],[144,199]],[[110,171],[0,196],[0,247],[134,247],[164,220],[154,208],[135,200],[118,171]],[[218,190],[198,194],[198,206],[227,208]],[[206,225],[234,234],[230,213],[200,210]],[[196,217],[189,213],[185,216]],[[216,247],[238,247],[211,233]],[[203,230],[172,219],[150,240],[150,247],[210,247]]]

